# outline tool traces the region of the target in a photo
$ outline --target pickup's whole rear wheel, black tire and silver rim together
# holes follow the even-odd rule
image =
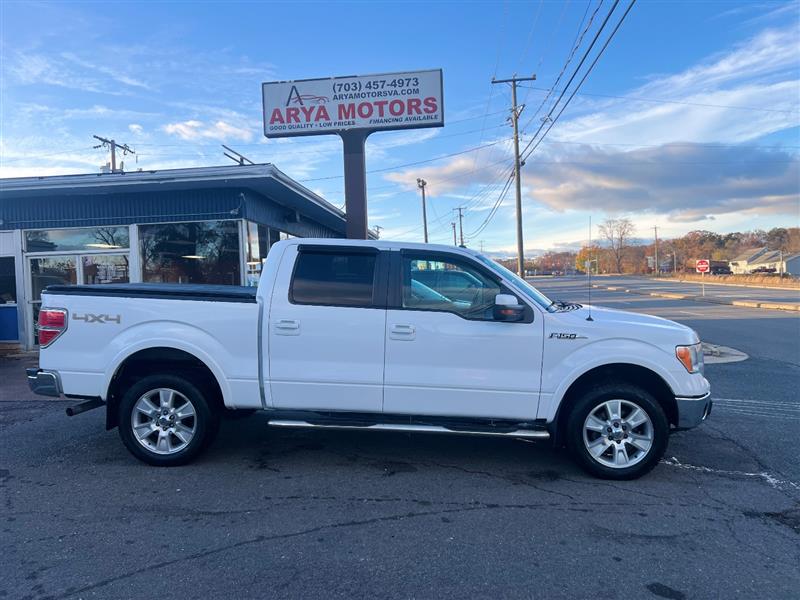
[[[119,435],[139,460],[158,467],[183,465],[214,439],[219,414],[189,380],[149,375],[132,385],[119,404]]]

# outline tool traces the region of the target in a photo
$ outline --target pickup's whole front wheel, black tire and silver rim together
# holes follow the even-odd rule
[[[669,422],[647,391],[609,383],[587,390],[567,420],[567,446],[575,461],[602,479],[636,479],[667,450]]]

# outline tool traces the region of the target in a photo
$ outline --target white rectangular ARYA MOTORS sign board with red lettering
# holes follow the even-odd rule
[[[442,71],[262,84],[264,135],[442,127]]]

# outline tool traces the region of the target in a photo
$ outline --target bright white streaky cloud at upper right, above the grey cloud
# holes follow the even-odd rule
[[[687,104],[583,97],[568,110],[584,115],[559,122],[558,135],[586,143],[737,143],[794,127],[800,118],[798,41],[793,27],[765,30],[727,53],[626,94]]]

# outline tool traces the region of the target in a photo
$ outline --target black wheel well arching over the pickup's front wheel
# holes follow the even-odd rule
[[[675,402],[675,394],[658,373],[639,365],[625,363],[602,365],[578,377],[564,394],[555,419],[556,443],[560,443],[560,440],[564,439],[564,428],[569,413],[584,391],[592,386],[609,382],[630,383],[646,390],[664,409],[669,423],[671,425],[678,424],[678,405]]]

